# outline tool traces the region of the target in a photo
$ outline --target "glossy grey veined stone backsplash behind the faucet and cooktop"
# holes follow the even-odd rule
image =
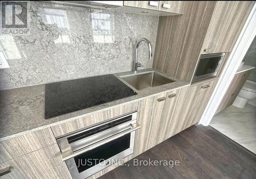
[[[156,43],[158,17],[31,2],[30,34],[0,35],[10,68],[0,90],[132,70],[136,40]],[[145,43],[138,61],[151,68]]]

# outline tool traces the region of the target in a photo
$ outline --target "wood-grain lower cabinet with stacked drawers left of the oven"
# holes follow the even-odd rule
[[[2,171],[8,172],[3,174]],[[0,178],[54,178],[68,172],[50,127],[0,141]]]

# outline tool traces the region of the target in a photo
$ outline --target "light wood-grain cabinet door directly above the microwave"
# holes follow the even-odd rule
[[[231,52],[254,3],[249,1],[218,1],[201,53]]]

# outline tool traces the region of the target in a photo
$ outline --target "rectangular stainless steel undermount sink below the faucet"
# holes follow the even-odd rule
[[[172,79],[166,78],[165,76],[157,73],[156,71],[150,71],[147,73],[138,73],[130,76],[121,77],[125,82],[129,83],[137,90],[146,88],[152,88],[155,86],[164,85],[167,83],[175,82]]]

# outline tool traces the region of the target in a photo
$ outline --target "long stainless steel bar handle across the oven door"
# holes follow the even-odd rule
[[[124,136],[124,135],[126,135],[126,134],[132,133],[132,132],[134,132],[134,131],[136,131],[136,130],[138,130],[138,129],[141,128],[141,126],[140,126],[138,123],[136,123],[136,124],[131,124],[131,127],[132,127],[132,128],[129,129],[129,130],[126,130],[126,131],[124,131],[124,132],[115,134],[115,135],[113,135],[112,137],[103,139],[103,140],[101,140],[101,141],[99,141],[99,142],[97,142],[97,143],[95,143],[95,144],[92,144],[92,145],[90,145],[90,146],[88,146],[88,147],[82,148],[82,149],[80,149],[80,150],[78,150],[78,151],[76,151],[76,152],[73,152],[73,153],[72,153],[71,150],[62,152],[62,160],[63,160],[63,161],[66,161],[66,160],[72,159],[72,158],[74,158],[74,157],[76,157],[76,156],[79,156],[79,155],[83,154],[84,152],[87,152],[87,151],[92,150],[92,149],[94,149],[94,148],[96,148],[96,147],[99,147],[100,145],[104,145],[104,144],[106,144],[106,143],[108,143],[108,142],[111,142],[111,141],[113,141],[113,140],[115,140],[115,139],[118,139],[118,138],[120,138],[120,137],[122,137],[122,136]]]

